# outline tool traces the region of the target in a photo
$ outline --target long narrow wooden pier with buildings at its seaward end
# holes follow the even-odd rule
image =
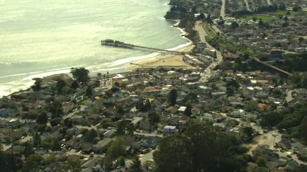
[[[150,48],[150,47],[143,47],[138,45],[132,45],[120,41],[114,41],[111,39],[101,40],[101,45],[106,46],[112,46],[112,47],[119,47],[119,48],[127,48],[127,49],[135,49],[135,50],[141,50],[141,51],[150,51],[150,52],[158,52],[163,54],[177,54],[177,55],[184,55],[185,52],[179,52],[179,51],[169,51],[164,49],[158,49],[158,48]]]

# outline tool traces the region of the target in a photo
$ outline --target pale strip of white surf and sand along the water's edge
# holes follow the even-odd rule
[[[169,6],[169,5],[168,5]],[[183,28],[179,28],[178,25],[179,25],[179,22],[180,20],[171,20],[171,19],[165,19],[164,20],[168,20],[168,21],[174,21],[176,22],[174,25],[171,25],[171,27],[173,28],[177,28],[180,30],[180,37],[182,37],[183,39],[187,39],[189,42],[185,43],[185,44],[181,44],[181,45],[178,45],[176,47],[173,47],[173,48],[169,48],[168,50],[173,50],[173,51],[184,51],[184,52],[188,52],[190,50],[192,50],[192,48],[194,47],[193,45],[193,42],[186,38],[185,36],[188,34],[187,32],[185,32],[185,30]],[[143,58],[144,56],[147,56],[147,58]],[[149,57],[148,57],[149,56]],[[183,58],[183,55],[173,55],[173,54],[157,54],[157,55],[154,55],[152,56],[152,53],[150,54],[146,54],[146,55],[143,55],[143,56],[140,56],[142,57],[143,59],[131,59],[120,64],[122,65],[120,68],[116,68],[116,70],[119,70],[119,71],[112,71],[112,70],[109,70],[109,72],[112,74],[115,74],[115,73],[120,73],[120,72],[127,72],[127,71],[132,71],[136,68],[140,68],[140,67],[143,67],[143,66],[150,66],[150,67],[158,67],[158,66],[177,66],[177,67],[191,67],[191,65],[185,63],[182,58]],[[138,58],[140,58],[138,57]],[[129,59],[131,57],[127,57],[127,58],[124,58],[124,59]],[[118,59],[118,60],[123,60],[123,59]],[[135,64],[131,64],[131,63],[135,63]],[[93,66],[84,66],[85,68],[87,69],[91,69],[91,67]],[[97,66],[94,66],[93,67],[93,71],[91,71],[91,74],[90,74],[90,77],[94,77],[96,75],[96,73],[98,72],[106,72],[105,70],[101,70],[102,68],[99,67],[99,69],[96,68]],[[68,71],[69,69],[68,68],[65,68],[65,71]],[[59,73],[68,73],[69,74],[69,71],[68,72],[63,72],[64,69],[62,70],[50,70],[50,71],[43,71],[42,73],[41,72],[35,72],[34,75],[36,75],[35,77],[46,77],[46,76],[50,76],[50,75],[53,75],[53,74],[59,74]],[[20,93],[20,92],[23,92],[23,91],[27,91],[30,86],[34,83],[34,81],[30,78],[32,77],[33,75],[29,75],[27,76],[26,78],[23,78],[22,80],[20,81],[10,81],[8,83],[2,83],[0,84],[3,89],[0,90],[0,97],[6,97],[6,96],[10,96],[12,94],[15,94],[15,93]],[[14,87],[15,86],[15,87]],[[15,88],[15,89],[13,89]]]

